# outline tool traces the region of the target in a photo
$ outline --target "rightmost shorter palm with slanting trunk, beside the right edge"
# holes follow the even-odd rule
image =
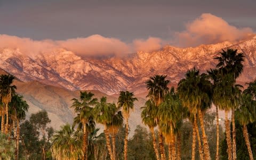
[[[236,110],[236,118],[238,122],[243,126],[243,135],[249,153],[249,157],[250,160],[253,160],[252,148],[249,140],[249,134],[247,131],[247,125],[249,123],[253,123],[256,121],[254,113],[256,101],[253,100],[253,96],[251,94],[245,93],[243,94],[240,108]]]

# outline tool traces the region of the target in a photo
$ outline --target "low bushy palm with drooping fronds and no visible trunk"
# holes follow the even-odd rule
[[[79,136],[78,136],[79,137]],[[52,157],[57,160],[76,160],[84,156],[81,140],[69,124],[61,126],[52,138]]]

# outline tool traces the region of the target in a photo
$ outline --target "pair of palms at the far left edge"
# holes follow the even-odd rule
[[[23,97],[15,93],[16,86],[12,85],[13,75],[0,76],[0,115],[1,115],[1,133],[8,139],[14,139],[15,159],[19,155],[20,142],[20,122],[26,117],[28,104]]]

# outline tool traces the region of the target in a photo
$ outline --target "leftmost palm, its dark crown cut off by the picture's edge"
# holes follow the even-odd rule
[[[0,95],[1,95],[2,102],[5,105],[5,114],[6,114],[5,133],[7,133],[9,129],[8,103],[12,100],[14,89],[16,89],[16,86],[12,85],[13,79],[14,79],[13,75],[1,75],[0,77]]]

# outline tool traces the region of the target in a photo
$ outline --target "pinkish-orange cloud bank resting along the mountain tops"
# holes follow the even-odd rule
[[[21,38],[10,35],[0,35],[0,49],[5,47],[19,49],[26,54],[51,52],[57,48],[64,48],[84,57],[87,55],[124,55],[137,51],[155,51],[166,44],[179,47],[213,44],[223,41],[237,42],[254,35],[251,28],[237,28],[231,26],[220,17],[210,13],[203,13],[194,21],[188,22],[186,30],[175,33],[168,39],[148,37],[148,39],[134,39],[131,43],[121,39],[91,35],[63,41],[45,39],[35,41],[30,38]]]

